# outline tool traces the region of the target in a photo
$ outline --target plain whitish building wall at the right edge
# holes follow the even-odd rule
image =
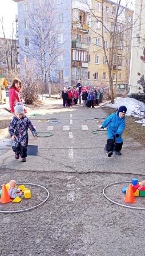
[[[145,93],[145,1],[136,0],[131,51],[130,94]]]

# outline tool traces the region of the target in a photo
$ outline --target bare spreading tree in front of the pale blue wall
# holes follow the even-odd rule
[[[54,4],[53,0],[35,0],[30,7],[27,33],[29,42],[22,49],[36,59],[45,83],[50,80],[56,59],[61,54],[59,23]]]

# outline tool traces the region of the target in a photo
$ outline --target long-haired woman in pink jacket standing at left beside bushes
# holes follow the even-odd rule
[[[22,102],[20,94],[21,87],[21,81],[19,79],[14,79],[13,84],[9,89],[9,103],[11,113],[14,113],[14,106],[17,104],[17,102]]]

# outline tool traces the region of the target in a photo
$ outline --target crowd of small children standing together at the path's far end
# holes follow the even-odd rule
[[[79,87],[63,87],[62,99],[63,107],[71,107],[73,105],[81,104],[81,99],[83,102],[83,107],[92,107],[94,105],[99,105],[102,102],[103,93],[97,90],[95,87],[90,89],[88,86]]]

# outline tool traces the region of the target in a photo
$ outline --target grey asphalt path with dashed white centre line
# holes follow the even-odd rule
[[[38,145],[37,156],[29,155],[22,163],[14,159],[10,146],[0,150],[1,184],[16,179],[45,186],[50,192],[37,209],[1,213],[2,256],[144,255],[144,210],[115,205],[102,190],[112,182],[145,179],[145,150],[132,138],[124,138],[122,156],[108,158],[106,134],[92,134],[105,117],[101,107],[63,109],[58,102],[45,114],[29,117],[37,131],[53,133],[37,140],[30,134],[29,145]],[[110,187],[107,196],[124,204],[125,185]],[[32,194],[27,203],[1,204],[0,210],[30,207],[46,197],[34,188]],[[144,198],[136,201],[134,206],[145,207]]]

